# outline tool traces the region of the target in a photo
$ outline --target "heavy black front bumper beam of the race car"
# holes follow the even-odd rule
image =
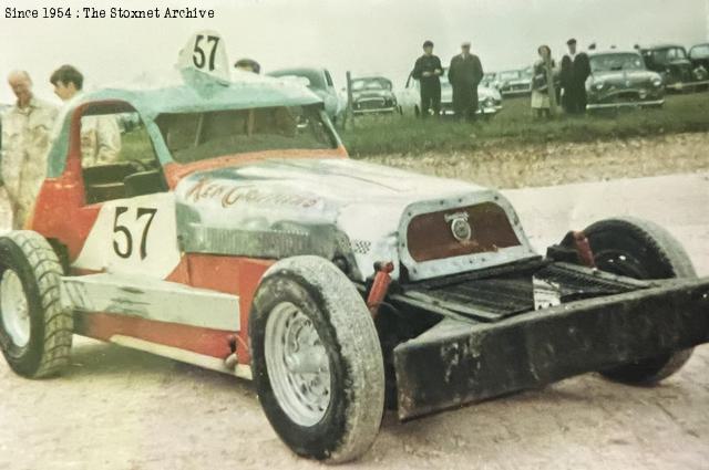
[[[494,323],[446,317],[394,348],[399,417],[534,388],[709,342],[709,278]]]

